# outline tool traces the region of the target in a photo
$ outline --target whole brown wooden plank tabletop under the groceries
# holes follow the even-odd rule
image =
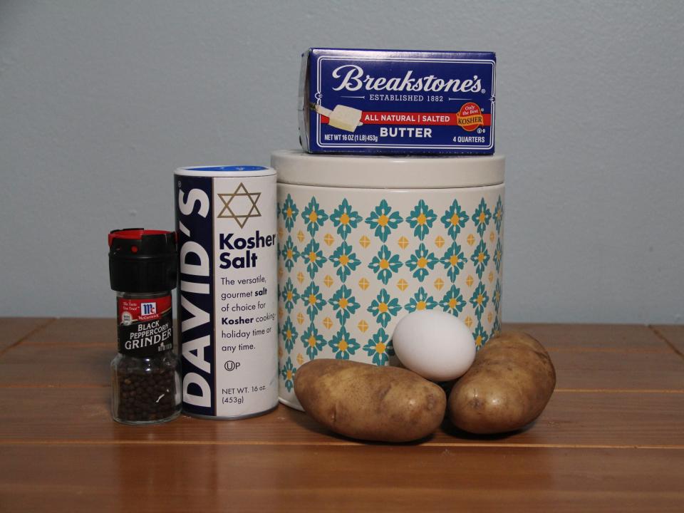
[[[110,418],[113,319],[0,318],[0,511],[684,511],[684,326],[529,324],[556,391],[531,427],[366,444],[299,411]]]

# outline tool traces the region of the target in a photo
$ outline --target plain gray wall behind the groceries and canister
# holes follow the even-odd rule
[[[113,316],[172,170],[298,145],[309,46],[497,52],[504,321],[681,323],[684,2],[0,0],[0,315]]]

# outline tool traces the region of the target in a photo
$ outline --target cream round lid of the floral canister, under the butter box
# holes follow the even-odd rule
[[[323,187],[450,189],[504,181],[504,157],[321,155],[301,150],[271,154],[278,181]]]

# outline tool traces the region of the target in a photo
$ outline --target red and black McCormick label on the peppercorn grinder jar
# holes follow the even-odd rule
[[[171,294],[152,299],[116,299],[119,353],[151,358],[173,348]]]

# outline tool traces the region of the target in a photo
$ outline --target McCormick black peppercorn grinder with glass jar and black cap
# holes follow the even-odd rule
[[[177,279],[176,235],[122,229],[110,232],[108,242],[118,339],[111,363],[112,417],[123,424],[164,423],[181,409],[171,297]]]

